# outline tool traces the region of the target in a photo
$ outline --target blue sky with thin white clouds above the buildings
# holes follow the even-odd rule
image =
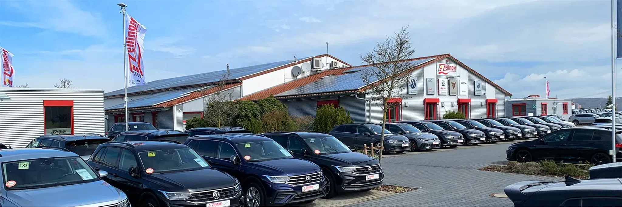
[[[542,94],[544,76],[559,98],[611,88],[608,0],[123,2],[147,27],[147,81],[319,55],[325,42],[360,65],[360,54],[409,25],[415,57],[452,53],[514,96]],[[118,3],[0,1],[0,47],[15,55],[16,85],[123,88]]]

